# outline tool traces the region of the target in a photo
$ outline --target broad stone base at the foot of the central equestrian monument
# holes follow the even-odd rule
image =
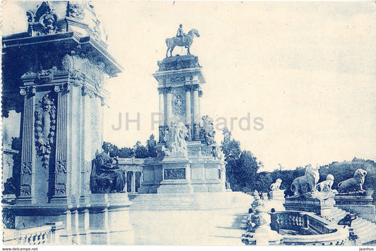
[[[226,190],[224,161],[212,157],[207,146],[200,142],[187,142],[188,157],[164,157],[145,159],[142,164],[142,184],[139,193],[166,192],[223,192]],[[170,170],[168,170],[170,169]],[[173,171],[172,169],[185,169]],[[171,174],[176,178],[171,178]],[[166,173],[168,172],[168,173]],[[179,174],[180,173],[180,174]],[[170,177],[166,177],[167,174]],[[182,178],[185,175],[186,178]],[[181,176],[181,178],[178,178]],[[176,188],[176,189],[173,189]]]

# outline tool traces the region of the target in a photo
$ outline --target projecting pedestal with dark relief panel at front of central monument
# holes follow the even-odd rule
[[[158,193],[191,193],[190,161],[181,155],[166,156],[162,161],[163,180],[157,189]]]

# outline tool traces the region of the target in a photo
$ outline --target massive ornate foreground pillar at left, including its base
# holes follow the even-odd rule
[[[126,193],[90,191],[103,142],[104,85],[122,71],[95,9],[44,1],[27,16],[28,31],[2,41],[4,91],[23,104],[20,196],[6,206],[14,226],[63,221],[63,243],[132,244]]]

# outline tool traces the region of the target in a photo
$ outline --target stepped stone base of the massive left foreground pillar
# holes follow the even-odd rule
[[[44,226],[48,222],[63,222],[60,243],[130,245],[134,243],[129,225],[126,193],[92,194],[90,204],[16,204],[8,206],[16,229]]]

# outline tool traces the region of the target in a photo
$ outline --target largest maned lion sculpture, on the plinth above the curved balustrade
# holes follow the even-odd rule
[[[317,181],[319,181],[320,174],[318,166],[305,166],[304,176],[298,177],[291,183],[291,191],[294,195],[303,195],[307,192],[314,192]]]

